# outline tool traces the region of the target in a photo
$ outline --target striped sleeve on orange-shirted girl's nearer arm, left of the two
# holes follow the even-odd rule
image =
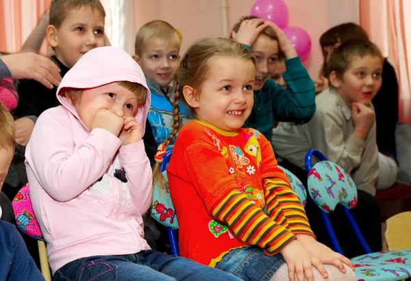
[[[227,193],[211,212],[213,217],[226,222],[238,239],[261,247],[269,256],[278,254],[296,238],[290,230],[273,222],[240,191]]]

